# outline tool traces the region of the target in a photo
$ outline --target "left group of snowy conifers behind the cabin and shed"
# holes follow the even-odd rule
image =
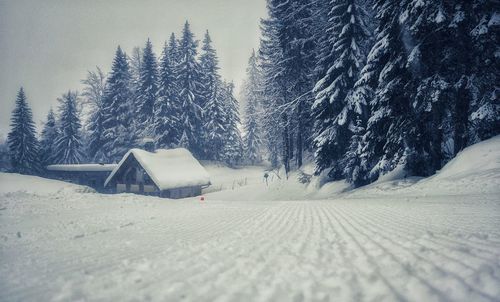
[[[240,162],[234,85],[219,75],[208,31],[201,51],[198,43],[186,22],[160,58],[149,39],[131,56],[118,46],[109,74],[89,72],[81,95],[69,91],[59,99],[40,140],[21,89],[8,137],[12,170],[35,174],[49,164],[116,162],[150,139],[156,148],[185,147],[200,159]]]

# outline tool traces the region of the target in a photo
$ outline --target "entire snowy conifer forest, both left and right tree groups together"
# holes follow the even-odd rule
[[[110,71],[63,93],[40,136],[21,88],[12,169],[117,162],[152,138],[233,166],[288,173],[313,161],[315,174],[356,186],[398,166],[432,175],[500,133],[496,4],[268,0],[238,96],[209,32],[197,40],[186,22],[161,54],[149,39],[129,53],[117,46]]]

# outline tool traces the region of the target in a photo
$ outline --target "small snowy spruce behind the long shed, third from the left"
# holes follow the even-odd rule
[[[73,91],[59,99],[59,134],[54,143],[54,162],[57,164],[79,164],[85,159],[77,99],[78,94]]]

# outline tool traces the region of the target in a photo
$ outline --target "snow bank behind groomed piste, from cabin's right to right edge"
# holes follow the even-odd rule
[[[307,168],[307,167],[306,167]],[[309,167],[310,168],[310,167]],[[500,194],[500,136],[470,146],[460,152],[436,175],[406,177],[402,166],[383,175],[376,182],[354,189],[344,180],[327,182],[326,173],[304,185],[293,172],[270,173],[268,184],[265,167],[230,169],[208,165],[213,177],[210,199],[218,200],[299,200],[365,198],[368,196],[437,196]],[[310,169],[309,169],[310,170]],[[244,183],[244,185],[239,185]]]

